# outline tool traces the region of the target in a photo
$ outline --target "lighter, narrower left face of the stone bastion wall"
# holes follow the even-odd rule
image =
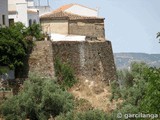
[[[52,43],[37,41],[29,57],[29,73],[39,73],[46,77],[54,77]]]

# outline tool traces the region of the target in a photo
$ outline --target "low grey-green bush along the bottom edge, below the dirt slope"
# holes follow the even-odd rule
[[[108,120],[106,113],[101,110],[89,110],[85,112],[68,112],[66,115],[60,115],[56,120]]]

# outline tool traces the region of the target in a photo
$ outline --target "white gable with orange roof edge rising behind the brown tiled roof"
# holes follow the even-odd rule
[[[98,10],[79,4],[67,4],[58,8],[57,11],[68,12],[87,17],[98,17]]]

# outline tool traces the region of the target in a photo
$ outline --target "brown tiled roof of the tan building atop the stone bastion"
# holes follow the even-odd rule
[[[45,19],[69,19],[69,20],[83,20],[83,19],[104,19],[100,17],[87,17],[87,16],[80,16],[73,13],[68,13],[64,11],[52,11],[50,13],[44,14],[40,17],[41,20]]]

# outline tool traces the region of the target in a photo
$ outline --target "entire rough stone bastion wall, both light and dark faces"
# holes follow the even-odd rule
[[[29,59],[29,71],[54,77],[56,58],[67,62],[80,80],[116,79],[116,70],[110,41],[37,41]]]

